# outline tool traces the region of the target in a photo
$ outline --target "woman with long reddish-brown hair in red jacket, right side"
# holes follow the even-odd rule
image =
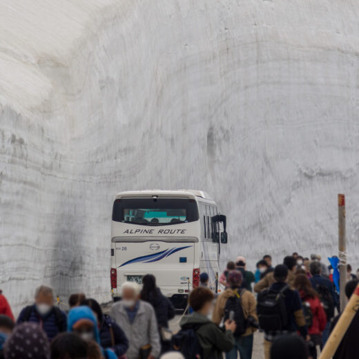
[[[307,275],[298,274],[295,277],[294,287],[299,291],[300,298],[302,298],[304,317],[307,321],[309,336],[311,336],[311,347],[309,351],[311,357],[316,359],[316,346],[322,344],[322,331],[324,331],[327,325],[327,315]]]

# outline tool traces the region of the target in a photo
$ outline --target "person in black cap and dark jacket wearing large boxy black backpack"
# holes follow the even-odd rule
[[[293,258],[293,257],[291,257]],[[293,258],[294,260],[294,258]],[[284,264],[278,264],[275,266],[273,272],[273,278],[275,282],[269,289],[266,289],[258,295],[258,315],[260,316],[260,306],[266,301],[266,295],[268,293],[278,293],[284,297],[285,309],[287,311],[287,323],[284,325],[281,331],[271,331],[264,329],[264,358],[271,359],[271,346],[276,338],[283,336],[286,333],[292,333],[299,331],[300,335],[307,341],[310,340],[308,334],[307,325],[304,319],[302,300],[300,294],[296,289],[291,289],[287,284],[287,278],[289,275],[288,266]],[[261,318],[261,317],[260,317]],[[288,358],[291,358],[290,356]]]

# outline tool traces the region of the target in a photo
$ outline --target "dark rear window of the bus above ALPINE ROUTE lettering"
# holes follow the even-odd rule
[[[197,220],[197,203],[188,198],[122,198],[113,204],[116,222],[164,226]]]

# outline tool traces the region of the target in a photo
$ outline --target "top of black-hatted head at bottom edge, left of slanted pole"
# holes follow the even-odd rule
[[[273,342],[271,359],[308,359],[307,345],[300,336],[282,336]]]

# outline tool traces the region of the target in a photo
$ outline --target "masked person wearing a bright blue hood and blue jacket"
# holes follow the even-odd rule
[[[100,345],[97,320],[89,307],[80,306],[70,310],[68,313],[68,332],[76,333],[86,342],[93,340]],[[106,359],[117,359],[116,354],[110,349],[101,347],[101,353]]]

